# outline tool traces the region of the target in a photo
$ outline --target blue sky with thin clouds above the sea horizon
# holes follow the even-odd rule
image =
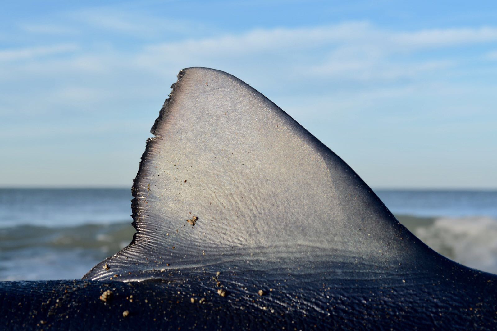
[[[405,2],[7,1],[0,186],[131,187],[169,86],[203,66],[372,187],[497,188],[497,5]]]

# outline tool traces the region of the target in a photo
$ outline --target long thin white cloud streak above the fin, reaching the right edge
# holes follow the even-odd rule
[[[242,34],[160,43],[147,48],[149,53],[167,57],[194,55],[244,55],[266,51],[306,50],[322,46],[354,46],[368,53],[395,53],[406,50],[448,47],[497,41],[497,28],[433,29],[416,32],[381,30],[367,22],[349,22],[310,28],[255,29]]]

